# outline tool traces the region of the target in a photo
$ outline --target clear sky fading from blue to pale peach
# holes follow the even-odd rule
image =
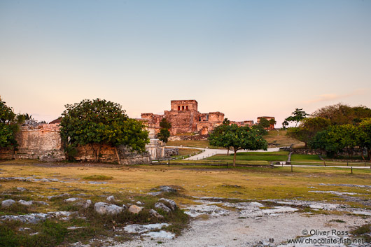
[[[196,99],[229,120],[371,107],[371,1],[0,0],[0,97],[54,120],[106,99],[130,118]]]

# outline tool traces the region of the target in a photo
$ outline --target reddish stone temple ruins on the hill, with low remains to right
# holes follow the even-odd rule
[[[197,110],[197,106],[198,103],[195,100],[172,100],[170,111],[164,111],[162,115],[142,113],[139,120],[143,121],[147,126],[151,138],[155,138],[155,135],[160,132],[160,121],[162,118],[166,118],[172,124],[172,128],[169,129],[171,134],[169,140],[204,140],[207,139],[209,132],[223,123],[224,113],[219,111],[200,113]],[[267,118],[269,120],[273,117],[260,118]],[[260,118],[258,118],[258,122]],[[254,122],[253,120],[241,122],[230,121],[230,124],[253,126]]]

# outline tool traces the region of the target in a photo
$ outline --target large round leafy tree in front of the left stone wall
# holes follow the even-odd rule
[[[116,147],[118,162],[117,146],[124,145],[139,152],[146,150],[148,132],[141,122],[128,118],[120,104],[85,99],[65,107],[60,123],[62,139],[71,147],[90,145],[96,162],[103,144]]]

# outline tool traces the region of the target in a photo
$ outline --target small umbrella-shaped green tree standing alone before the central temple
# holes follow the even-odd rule
[[[220,125],[210,134],[209,141],[213,146],[222,146],[234,151],[234,167],[236,166],[238,150],[267,150],[267,141],[262,138],[256,129],[251,129],[248,126]]]

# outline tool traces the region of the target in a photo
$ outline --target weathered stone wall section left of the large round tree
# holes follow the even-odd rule
[[[1,159],[39,159],[53,162],[64,160],[59,125],[25,125],[16,136],[18,150],[2,149]]]

